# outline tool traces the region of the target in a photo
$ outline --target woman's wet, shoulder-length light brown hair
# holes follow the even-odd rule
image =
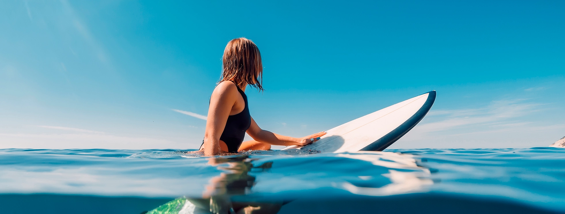
[[[263,91],[261,53],[253,41],[244,37],[232,39],[225,46],[222,61],[220,82],[233,81],[240,88],[249,84]]]

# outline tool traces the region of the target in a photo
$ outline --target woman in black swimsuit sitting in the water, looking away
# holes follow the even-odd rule
[[[205,155],[269,150],[271,145],[304,146],[325,135],[325,132],[319,132],[295,138],[259,128],[249,114],[244,91],[247,86],[262,91],[262,74],[261,54],[255,43],[246,38],[228,42],[223,56],[223,73],[210,97],[206,133],[200,148]],[[253,140],[243,142],[245,132]]]

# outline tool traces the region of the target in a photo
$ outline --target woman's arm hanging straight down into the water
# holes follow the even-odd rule
[[[218,84],[212,92],[206,120],[206,132],[204,133],[205,155],[216,155],[222,152],[220,136],[224,132],[229,113],[236,103],[237,96],[235,93],[239,93],[236,87],[232,82],[224,81]]]

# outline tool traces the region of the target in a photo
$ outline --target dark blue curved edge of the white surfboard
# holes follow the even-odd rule
[[[372,142],[368,146],[365,146],[365,148],[361,149],[360,151],[383,151],[398,139],[400,139],[402,136],[406,135],[408,131],[412,130],[412,128],[414,128],[416,124],[418,124],[421,119],[424,118],[426,114],[428,114],[429,109],[432,108],[433,102],[436,101],[436,91],[430,91],[426,93],[429,93],[428,99],[424,102],[424,105],[420,107],[418,112],[412,115],[412,117],[408,118],[406,122],[402,123],[393,131],[381,137],[379,140]],[[424,95],[426,93],[422,93],[421,95]]]

